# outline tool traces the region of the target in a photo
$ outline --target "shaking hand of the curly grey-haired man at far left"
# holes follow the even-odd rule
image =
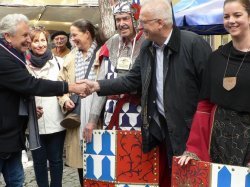
[[[87,97],[91,94],[88,85],[84,82],[69,84],[69,92],[76,93],[82,97]]]

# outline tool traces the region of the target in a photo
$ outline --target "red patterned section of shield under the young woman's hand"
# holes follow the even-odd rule
[[[208,187],[210,181],[210,163],[192,160],[186,166],[180,166],[178,158],[173,158],[172,187]]]

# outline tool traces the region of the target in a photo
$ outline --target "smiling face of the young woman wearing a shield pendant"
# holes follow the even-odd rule
[[[238,1],[227,2],[224,6],[224,27],[232,38],[249,34],[250,17],[246,8]]]

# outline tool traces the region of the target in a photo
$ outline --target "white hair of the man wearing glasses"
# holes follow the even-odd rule
[[[166,25],[173,24],[173,15],[169,0],[144,0],[142,8],[146,7],[154,18],[163,19]]]

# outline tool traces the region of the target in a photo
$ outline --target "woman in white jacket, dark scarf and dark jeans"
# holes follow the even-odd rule
[[[26,54],[27,69],[36,78],[57,80],[63,60],[55,57],[48,49],[48,36],[48,32],[41,26],[31,28],[31,45]],[[60,125],[63,114],[56,96],[36,96],[35,100],[37,109],[43,112],[38,120],[41,147],[31,151],[36,181],[39,187],[60,187],[66,132]],[[47,161],[50,168],[50,183]]]

